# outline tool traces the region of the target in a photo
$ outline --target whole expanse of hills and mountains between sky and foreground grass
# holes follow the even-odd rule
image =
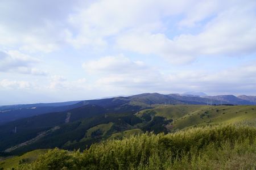
[[[167,133],[197,124],[228,122],[232,118],[254,120],[255,105],[255,96],[147,93],[65,103],[2,106],[0,156],[38,148],[73,150],[128,134]]]

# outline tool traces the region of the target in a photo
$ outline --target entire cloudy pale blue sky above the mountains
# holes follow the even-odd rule
[[[255,0],[1,0],[0,105],[256,95]]]

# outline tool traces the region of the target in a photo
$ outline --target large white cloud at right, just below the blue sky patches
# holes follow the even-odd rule
[[[171,63],[193,61],[199,56],[241,56],[256,52],[256,15],[253,8],[232,8],[218,14],[196,35],[169,39],[162,33],[132,32],[117,38],[121,49],[155,54]]]

